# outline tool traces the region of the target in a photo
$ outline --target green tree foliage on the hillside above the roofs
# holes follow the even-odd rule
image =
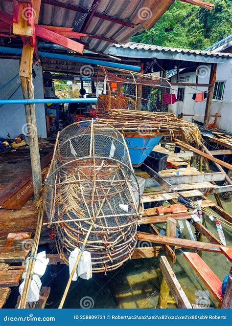
[[[150,30],[131,41],[203,50],[231,34],[232,1],[210,2],[211,11],[177,0]]]

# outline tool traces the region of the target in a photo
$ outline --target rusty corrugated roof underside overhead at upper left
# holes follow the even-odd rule
[[[59,0],[56,2],[88,10],[91,10],[93,5],[93,0]],[[135,26],[131,28],[93,16],[85,32],[110,38],[118,43],[128,42],[131,36],[153,26],[173,2],[174,0],[101,0],[96,10],[98,13],[130,22]],[[13,1],[0,1],[0,8],[12,14]],[[79,32],[85,18],[83,13],[42,2],[39,24],[73,27],[75,31]],[[88,43],[91,49],[97,51],[106,50],[110,44],[90,37],[84,37],[82,40]]]

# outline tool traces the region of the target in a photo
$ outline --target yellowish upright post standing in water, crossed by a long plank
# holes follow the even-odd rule
[[[171,217],[167,218],[166,236],[173,237],[173,238],[176,236],[176,220]],[[172,266],[172,261],[170,261],[168,259],[168,257],[167,257],[167,260],[168,260],[169,264]],[[167,307],[169,292],[170,292],[169,287],[168,287],[165,279],[163,278],[162,283],[161,283],[159,301],[158,301],[159,308],[164,309]]]

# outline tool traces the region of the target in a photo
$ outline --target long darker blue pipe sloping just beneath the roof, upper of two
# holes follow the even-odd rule
[[[0,52],[21,54],[22,49],[0,46]],[[141,70],[141,67],[139,67],[138,65],[122,65],[122,64],[117,64],[114,62],[101,61],[101,60],[96,60],[96,59],[88,59],[88,58],[82,58],[82,57],[75,57],[75,56],[70,56],[67,54],[48,53],[48,52],[43,52],[43,51],[38,51],[38,54],[39,54],[39,56],[44,57],[44,58],[60,59],[60,60],[68,60],[68,61],[70,60],[70,61],[75,61],[75,62],[82,62],[84,64],[103,65],[104,67],[126,69],[126,70],[131,70],[131,71],[140,71]]]

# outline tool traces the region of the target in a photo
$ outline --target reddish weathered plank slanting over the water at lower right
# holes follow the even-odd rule
[[[214,298],[222,303],[222,282],[212,272],[205,261],[203,261],[201,257],[195,252],[184,252],[184,257],[195,270],[199,278],[205,283]]]

